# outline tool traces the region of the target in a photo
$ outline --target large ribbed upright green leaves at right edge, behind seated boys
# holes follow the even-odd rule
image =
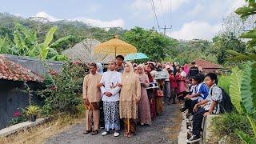
[[[239,114],[246,114],[254,131],[254,137],[236,130],[236,134],[246,143],[256,143],[256,66],[247,62],[244,70],[234,68],[230,78],[230,98]]]

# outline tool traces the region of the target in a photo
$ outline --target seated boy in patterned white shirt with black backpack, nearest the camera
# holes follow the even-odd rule
[[[219,103],[222,102],[222,89],[217,86],[217,75],[213,73],[206,74],[205,82],[206,86],[210,87],[209,94],[205,100],[198,102],[194,106],[193,135],[188,142],[197,142],[200,140],[202,119],[204,116],[208,114],[219,114],[220,112]]]

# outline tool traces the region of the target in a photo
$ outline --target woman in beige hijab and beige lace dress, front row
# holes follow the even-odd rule
[[[130,138],[134,136],[136,130],[135,119],[138,118],[138,102],[141,98],[141,84],[130,62],[126,62],[125,64],[121,82],[122,88],[119,104],[120,118],[123,118],[125,124],[124,135]]]

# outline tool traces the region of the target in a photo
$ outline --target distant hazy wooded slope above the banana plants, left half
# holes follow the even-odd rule
[[[4,37],[7,34],[9,38],[13,38],[14,27],[17,22],[27,28],[35,30],[38,34],[38,38],[42,41],[46,32],[50,30],[50,27],[52,26],[58,26],[58,30],[54,34],[56,39],[72,35],[74,36],[72,43],[81,42],[84,38],[95,38],[100,42],[104,42],[113,38],[114,34],[122,35],[126,31],[121,27],[113,27],[105,30],[103,28],[89,26],[84,22],[78,21],[71,22],[62,20],[57,22],[40,22],[39,20],[0,13],[0,37]]]

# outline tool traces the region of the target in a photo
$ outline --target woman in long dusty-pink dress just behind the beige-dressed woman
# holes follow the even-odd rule
[[[141,99],[138,102],[138,122],[143,126],[144,124],[151,125],[150,103],[146,93],[146,87],[150,86],[150,80],[145,74],[144,65],[137,66],[138,78],[141,82]]]

